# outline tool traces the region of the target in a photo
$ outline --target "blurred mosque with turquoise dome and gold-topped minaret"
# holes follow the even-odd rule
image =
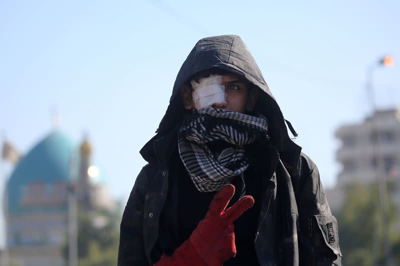
[[[16,162],[4,197],[2,261],[15,266],[66,265],[62,249],[73,239],[71,224],[76,226],[72,206],[76,212],[76,206],[90,211],[114,205],[91,152],[87,139],[79,145],[54,129]]]

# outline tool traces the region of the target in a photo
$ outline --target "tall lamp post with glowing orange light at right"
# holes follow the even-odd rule
[[[372,115],[376,113],[377,107],[374,97],[374,91],[372,86],[372,77],[373,70],[375,70],[379,66],[390,67],[394,64],[394,58],[391,55],[386,55],[381,58],[377,63],[373,63],[366,68],[366,92],[369,100],[370,107],[372,109]],[[379,123],[374,122],[374,119],[371,119],[370,125],[370,133],[373,133],[373,130],[379,127]],[[389,240],[389,215],[388,215],[388,200],[387,200],[387,185],[386,185],[386,174],[384,169],[384,158],[381,152],[381,146],[379,143],[380,134],[377,132],[376,141],[372,140],[373,153],[375,155],[376,161],[376,181],[378,185],[378,206],[380,217],[382,219],[383,225],[383,243],[384,243],[384,260],[386,266],[393,265],[391,258],[391,246]],[[377,265],[377,258],[379,253],[379,244],[378,244],[378,233],[377,227],[379,223],[379,217],[376,219],[376,225],[373,232],[373,262],[374,265]]]

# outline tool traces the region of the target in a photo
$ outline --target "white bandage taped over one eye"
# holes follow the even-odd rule
[[[200,110],[213,103],[226,103],[225,88],[222,84],[223,76],[210,75],[198,80],[190,80],[193,91],[191,98],[194,103],[194,108]]]

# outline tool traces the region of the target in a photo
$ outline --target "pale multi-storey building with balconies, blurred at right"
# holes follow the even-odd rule
[[[340,126],[336,160],[341,165],[337,184],[327,190],[332,209],[342,205],[343,188],[353,182],[372,183],[377,178],[400,184],[400,109],[377,110],[364,121]],[[392,194],[400,209],[400,192]]]

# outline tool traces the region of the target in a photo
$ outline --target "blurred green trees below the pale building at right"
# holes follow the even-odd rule
[[[389,184],[390,190],[395,189]],[[389,235],[395,265],[400,264],[400,232],[392,226],[396,222],[395,207],[388,198]],[[339,223],[340,249],[344,265],[384,264],[384,222],[379,207],[379,194],[376,184],[352,184],[345,189],[345,204],[336,213]],[[375,259],[375,262],[374,262]]]

